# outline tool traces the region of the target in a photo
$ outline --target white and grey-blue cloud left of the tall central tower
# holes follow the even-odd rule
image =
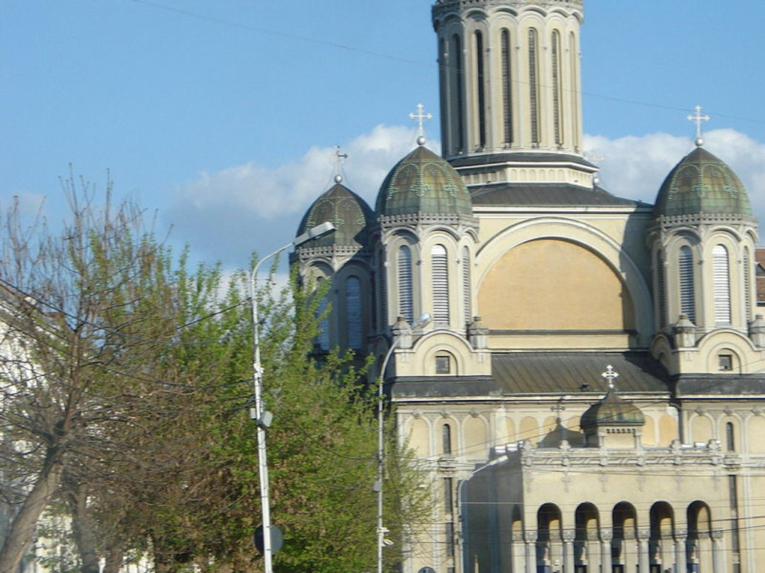
[[[344,145],[345,185],[374,208],[382,180],[415,138],[414,129],[379,125]],[[197,257],[246,266],[250,251],[268,253],[295,236],[304,212],[332,184],[333,158],[333,147],[312,147],[276,169],[249,162],[202,173],[178,190],[163,218]]]

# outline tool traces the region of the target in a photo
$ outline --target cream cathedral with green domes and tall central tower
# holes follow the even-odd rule
[[[337,177],[292,254],[332,285],[316,352],[373,356],[431,491],[403,573],[762,571],[765,270],[725,149],[698,129],[620,198],[582,150],[581,0],[432,21],[441,156],[421,133],[373,206]]]

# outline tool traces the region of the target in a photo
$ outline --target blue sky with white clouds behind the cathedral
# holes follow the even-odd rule
[[[413,145],[408,114],[438,115],[430,5],[0,0],[0,201],[44,196],[55,220],[70,162],[99,185],[109,169],[197,258],[244,266],[290,240],[332,146],[373,202]],[[584,131],[611,192],[651,201],[700,104],[763,218],[763,20],[754,0],[585,0]]]

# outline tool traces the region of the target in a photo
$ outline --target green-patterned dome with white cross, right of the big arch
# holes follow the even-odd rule
[[[702,147],[688,153],[662,183],[656,217],[684,214],[751,215],[747,190],[728,164]]]

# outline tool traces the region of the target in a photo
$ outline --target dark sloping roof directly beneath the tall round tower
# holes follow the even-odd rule
[[[647,205],[611,195],[600,187],[584,188],[579,185],[544,183],[500,183],[470,188],[474,207],[492,205],[536,205],[571,207],[591,206],[636,206]]]

